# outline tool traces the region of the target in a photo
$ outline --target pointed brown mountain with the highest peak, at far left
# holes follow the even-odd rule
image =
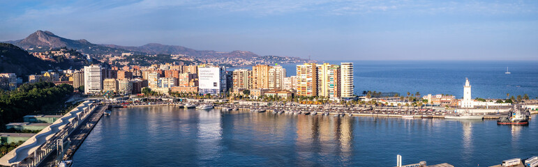
[[[126,52],[124,49],[114,49],[110,47],[103,47],[101,45],[95,45],[87,40],[70,40],[67,38],[61,38],[58,35],[50,31],[36,31],[28,35],[27,38],[22,40],[10,40],[6,41],[23,49],[29,51],[48,51],[52,48],[67,47],[70,49],[77,49],[84,54],[91,54],[100,56],[103,54],[116,54],[119,55],[122,52]]]

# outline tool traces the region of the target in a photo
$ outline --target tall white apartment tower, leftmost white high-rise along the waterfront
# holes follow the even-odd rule
[[[84,94],[96,94],[103,90],[100,65],[84,66]]]

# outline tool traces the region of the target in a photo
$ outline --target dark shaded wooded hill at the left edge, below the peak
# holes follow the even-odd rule
[[[15,73],[21,77],[52,69],[52,63],[36,58],[27,51],[8,43],[0,43],[0,73]]]

